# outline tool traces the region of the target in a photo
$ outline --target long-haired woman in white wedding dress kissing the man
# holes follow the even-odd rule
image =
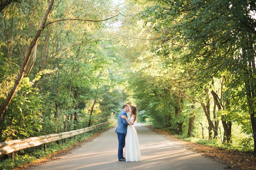
[[[131,106],[129,108],[129,112],[131,112],[128,118],[125,115],[121,117],[124,118],[128,122],[127,127],[127,136],[126,136],[126,162],[127,161],[141,161],[140,156],[140,146],[139,140],[137,136],[137,131],[133,126],[133,122],[136,122],[137,119],[137,108],[135,106]]]

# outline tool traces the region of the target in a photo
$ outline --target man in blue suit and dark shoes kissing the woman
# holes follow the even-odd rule
[[[129,105],[123,105],[123,110],[119,113],[118,124],[116,128],[117,138],[118,138],[118,161],[126,161],[123,155],[123,148],[125,145],[125,137],[127,133],[128,122],[121,116],[125,115],[127,117],[127,112],[129,111]]]

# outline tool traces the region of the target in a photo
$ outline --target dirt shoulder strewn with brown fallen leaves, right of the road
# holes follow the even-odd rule
[[[251,156],[250,153],[183,141],[179,137],[169,134],[168,131],[155,129],[152,126],[148,126],[148,128],[157,132],[158,134],[165,135],[171,141],[178,142],[181,146],[185,146],[188,150],[192,150],[200,153],[202,156],[212,158],[215,162],[225,163],[229,168],[256,170],[256,157]]]

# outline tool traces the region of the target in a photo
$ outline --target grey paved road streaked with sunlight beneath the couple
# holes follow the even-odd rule
[[[136,123],[134,126],[140,142],[142,158],[140,162],[118,162],[116,128],[112,128],[103,132],[92,142],[84,143],[82,147],[74,149],[72,153],[61,156],[61,159],[29,169],[213,170],[227,167],[196,152],[186,150],[178,143],[169,141],[143,124]]]

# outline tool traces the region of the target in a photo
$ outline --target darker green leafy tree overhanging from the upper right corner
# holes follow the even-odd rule
[[[181,69],[193,86],[211,84],[213,78],[229,72],[238,82],[233,85],[246,92],[256,152],[255,21],[251,13],[255,2],[157,1],[151,5],[142,17],[157,33],[154,50],[165,51],[165,56],[181,53],[171,62],[184,66]]]

